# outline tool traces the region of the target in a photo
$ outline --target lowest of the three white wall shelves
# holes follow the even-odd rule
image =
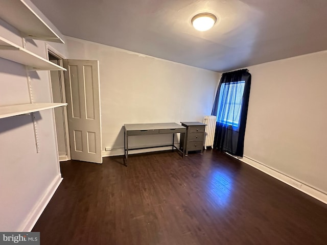
[[[0,107],[0,118],[6,118],[11,116],[17,116],[27,114],[31,112],[56,108],[60,106],[66,106],[67,103],[32,103],[32,104],[21,104],[13,106],[1,106]]]

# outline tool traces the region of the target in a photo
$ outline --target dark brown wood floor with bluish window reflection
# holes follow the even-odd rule
[[[327,244],[327,205],[216,150],[61,163],[41,244]]]

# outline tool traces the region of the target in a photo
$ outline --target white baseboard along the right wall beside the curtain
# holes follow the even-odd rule
[[[230,155],[230,154],[228,154],[228,155]],[[235,156],[232,156],[232,157],[235,157]],[[288,185],[294,187],[295,189],[298,189],[298,190],[310,195],[311,197],[319,200],[320,202],[327,204],[327,194],[324,193],[322,190],[316,189],[306,183],[303,183],[303,182],[296,180],[290,176],[287,176],[286,174],[281,173],[280,171],[277,171],[276,169],[273,169],[273,168],[265,165],[264,163],[262,163],[260,161],[256,161],[248,156],[243,156],[243,158],[239,158],[239,157],[236,157],[236,158],[256,169],[259,169],[260,171],[263,171],[265,174],[270,175],[271,177],[274,177],[275,179],[282,181],[285,184],[288,184]]]

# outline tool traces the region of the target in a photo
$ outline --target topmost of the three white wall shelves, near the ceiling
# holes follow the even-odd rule
[[[64,43],[23,0],[0,0],[0,18],[26,38]]]

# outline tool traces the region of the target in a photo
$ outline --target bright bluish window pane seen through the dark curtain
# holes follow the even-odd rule
[[[217,121],[238,127],[245,81],[222,83],[219,92]]]

